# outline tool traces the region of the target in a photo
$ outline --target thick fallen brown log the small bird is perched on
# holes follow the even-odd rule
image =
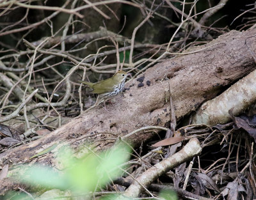
[[[138,88],[136,80],[127,83],[125,87],[129,90],[114,98],[115,104],[107,106],[108,112],[101,106],[95,107],[42,139],[1,153],[0,165],[30,162],[29,157],[56,142],[71,144],[73,148],[84,142],[95,142],[96,150],[100,150],[115,142],[114,136],[107,132],[122,136],[141,127],[163,127],[170,121],[170,103],[166,102],[169,100],[166,92],[169,84],[176,117],[182,118],[195,111],[205,100],[218,95],[224,86],[233,84],[255,69],[250,51],[244,44],[246,38],[255,34],[256,30],[230,31],[206,45],[186,51],[195,53],[177,56],[149,68],[140,75],[145,77],[144,86]],[[251,50],[256,51],[256,40],[248,40]],[[204,50],[198,51],[200,49]],[[153,134],[138,132],[129,139],[138,145]],[[58,165],[52,153],[35,159],[55,167]],[[0,190],[3,187],[1,185]]]

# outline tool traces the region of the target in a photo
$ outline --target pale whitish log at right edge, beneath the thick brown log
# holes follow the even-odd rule
[[[228,111],[241,114],[256,101],[256,70],[237,81],[220,96],[205,102],[193,116],[192,123],[216,125],[230,121]]]

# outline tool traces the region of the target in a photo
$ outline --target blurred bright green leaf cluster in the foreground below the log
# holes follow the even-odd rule
[[[45,188],[70,189],[73,192],[90,192],[95,188],[106,185],[122,170],[118,165],[124,164],[129,159],[130,150],[124,144],[102,153],[88,153],[83,158],[74,158],[72,151],[67,146],[61,148],[57,160],[63,165],[64,170],[58,171],[51,167],[41,165],[22,165],[19,174],[20,180],[30,185]]]

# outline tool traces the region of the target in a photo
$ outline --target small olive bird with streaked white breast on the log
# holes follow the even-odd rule
[[[109,98],[118,95],[124,89],[125,79],[130,73],[126,73],[124,71],[116,72],[113,77],[109,79],[99,81],[99,82],[87,82],[87,81],[79,81],[83,84],[86,84],[90,88],[92,88],[92,93],[98,94],[104,98]]]

